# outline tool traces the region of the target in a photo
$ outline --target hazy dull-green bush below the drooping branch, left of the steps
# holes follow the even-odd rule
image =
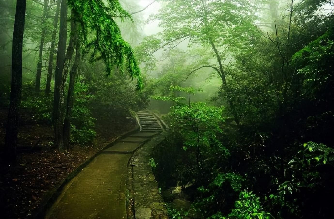
[[[146,107],[148,96],[145,90],[138,91],[131,78],[115,74],[106,77],[101,68],[82,65],[82,75],[76,86],[83,86],[82,95],[89,98],[89,109],[100,121],[111,121],[115,117],[132,117],[131,111]]]

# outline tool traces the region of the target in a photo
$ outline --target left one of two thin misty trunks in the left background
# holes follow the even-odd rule
[[[41,42],[39,44],[39,55],[38,55],[38,63],[37,63],[37,73],[36,73],[36,83],[35,83],[35,91],[39,92],[40,82],[41,82],[41,74],[42,74],[42,55],[43,55],[43,46],[44,46],[44,39],[46,33],[46,17],[48,14],[48,5],[49,0],[44,0],[44,12],[42,17],[42,33],[41,33]]]

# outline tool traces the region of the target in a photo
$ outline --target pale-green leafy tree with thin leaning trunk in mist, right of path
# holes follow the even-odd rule
[[[233,53],[228,48],[230,45],[238,45],[242,49],[242,39],[256,31],[254,9],[253,1],[245,0],[175,0],[164,4],[154,18],[160,20],[159,26],[165,29],[161,33],[163,46],[172,49],[187,39],[189,46],[212,48],[211,55],[216,63],[207,60],[207,64],[194,68],[189,75],[201,68],[211,68],[221,78],[222,87],[228,95],[227,70]],[[225,60],[227,62],[224,65]],[[239,124],[235,97],[228,95],[226,100],[230,113]]]

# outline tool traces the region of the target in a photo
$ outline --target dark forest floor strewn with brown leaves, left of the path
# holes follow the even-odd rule
[[[4,144],[7,110],[0,110],[0,146]],[[97,136],[85,145],[72,145],[69,153],[53,148],[50,124],[37,123],[26,115],[18,134],[17,162],[0,165],[0,211],[4,218],[28,218],[43,196],[96,152],[135,127],[131,118],[96,124]]]

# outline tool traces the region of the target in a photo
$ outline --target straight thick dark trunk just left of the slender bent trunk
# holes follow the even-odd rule
[[[63,105],[64,85],[66,77],[63,77],[63,69],[66,57],[67,41],[67,0],[61,0],[59,40],[57,49],[57,65],[54,74],[54,99],[53,99],[53,124],[54,140],[59,151],[63,149]]]

